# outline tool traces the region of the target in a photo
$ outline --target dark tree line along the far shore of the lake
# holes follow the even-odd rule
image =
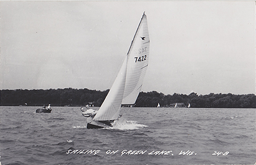
[[[101,106],[108,90],[90,89],[15,89],[1,90],[2,106],[43,106],[50,103],[52,106],[84,106],[88,102],[93,102],[94,106]],[[256,108],[256,96],[254,94],[233,95],[232,93],[210,93],[209,95],[189,95],[174,93],[164,95],[164,93],[140,92],[135,107],[168,107],[172,103],[183,103],[191,108]]]

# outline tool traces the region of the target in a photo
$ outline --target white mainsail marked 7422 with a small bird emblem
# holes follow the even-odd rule
[[[148,67],[149,32],[145,14],[143,14],[142,20],[137,28],[127,57],[126,85],[122,104],[133,105],[142,88],[143,79]]]

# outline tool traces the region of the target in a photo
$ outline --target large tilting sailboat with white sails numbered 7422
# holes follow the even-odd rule
[[[108,95],[97,114],[88,114],[88,129],[112,127],[114,121],[121,117],[119,113],[122,106],[135,105],[148,67],[149,42],[148,22],[144,12]]]

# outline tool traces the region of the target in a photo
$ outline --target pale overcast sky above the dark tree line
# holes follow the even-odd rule
[[[111,88],[144,11],[143,92],[255,93],[253,1],[1,1],[0,88]]]

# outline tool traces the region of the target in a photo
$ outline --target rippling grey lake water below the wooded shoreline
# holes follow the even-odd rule
[[[2,164],[256,162],[255,109],[123,108],[127,122],[88,130],[79,107],[0,108]]]

